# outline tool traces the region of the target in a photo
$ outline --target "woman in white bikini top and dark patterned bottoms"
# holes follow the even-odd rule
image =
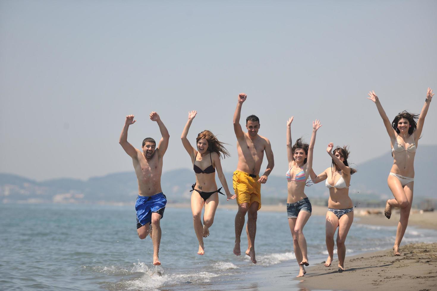
[[[344,258],[346,257],[347,233],[354,221],[354,205],[349,197],[350,175],[357,170],[349,168],[347,158],[349,151],[347,147],[334,147],[333,143],[328,144],[326,151],[332,158],[332,166],[316,177],[314,171],[311,178],[314,184],[326,180],[325,185],[329,189],[328,212],[326,213],[326,248],[328,258],[325,266],[329,267],[334,257],[334,234],[337,233],[337,255],[338,271],[344,271]]]

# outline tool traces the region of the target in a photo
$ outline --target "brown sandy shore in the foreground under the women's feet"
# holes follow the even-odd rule
[[[342,273],[337,272],[338,260],[330,267],[317,264],[296,280],[309,290],[437,290],[437,243],[401,245],[401,254],[382,250],[346,257]]]

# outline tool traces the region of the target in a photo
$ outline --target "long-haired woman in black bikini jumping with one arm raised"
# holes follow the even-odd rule
[[[197,150],[191,146],[187,139],[188,130],[196,114],[197,111],[188,113],[188,121],[180,139],[191,157],[193,170],[196,173],[196,183],[192,186],[193,190],[191,190],[193,191],[191,195],[191,211],[193,212],[194,231],[199,240],[198,254],[203,255],[205,253],[203,238],[209,235],[209,227],[212,226],[214,221],[215,209],[218,206],[218,193],[223,194],[220,190],[224,188],[228,200],[235,199],[236,195],[232,195],[229,192],[225,175],[223,175],[220,157],[229,157],[229,152],[223,147],[223,143],[218,141],[217,137],[209,130],[204,130],[198,134],[196,138]],[[223,185],[219,189],[215,183],[215,169],[217,169],[218,178]],[[202,226],[201,214],[204,205],[205,213],[203,215]]]

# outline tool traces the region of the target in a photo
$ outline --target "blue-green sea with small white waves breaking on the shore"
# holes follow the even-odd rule
[[[269,290],[275,288],[271,281],[266,286],[268,278],[281,269],[286,272],[274,285],[299,290],[286,212],[258,212],[257,264],[244,255],[244,230],[243,255],[232,253],[235,214],[217,209],[200,256],[191,209],[167,206],[162,265],[156,267],[150,237],[137,236],[134,205],[0,204],[0,289]],[[354,222],[346,256],[391,248],[395,232],[395,227]],[[311,216],[304,234],[309,263],[325,260],[325,217]],[[435,230],[409,226],[402,243],[436,241]]]

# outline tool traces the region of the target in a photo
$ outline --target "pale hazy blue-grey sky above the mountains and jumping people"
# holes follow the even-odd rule
[[[170,132],[164,171],[191,168],[180,134],[212,130],[230,144],[239,92],[245,117],[260,117],[271,140],[272,175],[287,171],[285,125],[316,140],[316,172],[326,145],[350,145],[357,164],[390,151],[367,92],[389,118],[420,113],[437,90],[435,1],[0,1],[0,172],[37,180],[86,179],[132,171],[118,144],[159,138],[149,113]],[[437,144],[435,104],[420,144]],[[267,165],[267,161],[265,161]],[[385,165],[382,165],[385,166]],[[390,165],[386,165],[389,169]],[[264,165],[263,165],[264,167]],[[319,169],[319,170],[317,170]]]

